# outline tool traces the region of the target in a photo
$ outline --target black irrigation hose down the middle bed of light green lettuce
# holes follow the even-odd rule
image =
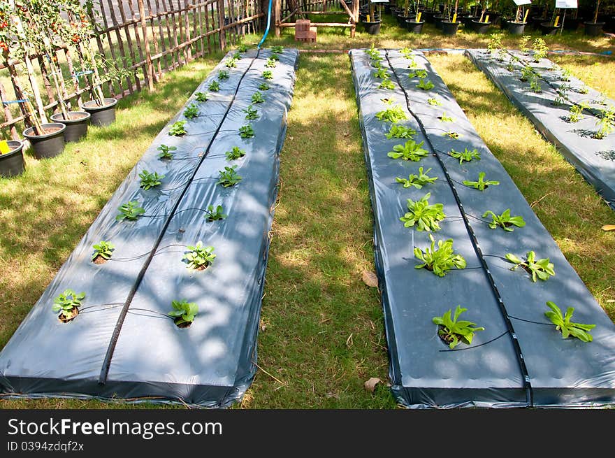
[[[414,117],[414,120],[417,121],[417,123],[419,124],[419,127],[421,127],[421,131],[423,131],[423,134],[425,136],[425,141],[429,144],[430,148],[432,150],[434,150],[433,144],[429,140],[429,137],[428,137],[428,134],[427,134],[427,130],[426,130],[424,124],[421,122],[421,120],[419,120],[419,118],[416,115],[414,115],[414,112],[412,111],[412,108],[410,108],[410,96],[408,96],[407,91],[405,90],[405,88],[401,84],[401,81],[399,79],[399,76],[398,76],[397,72],[393,68],[393,64],[391,64],[391,59],[389,59],[389,51],[385,50],[384,55],[386,57],[386,62],[389,62],[389,68],[391,69],[391,71],[393,71],[393,75],[395,75],[395,79],[397,81],[398,86],[400,87],[400,89],[404,93],[404,96],[405,96],[405,99],[406,99],[406,106],[407,106],[408,111],[410,112],[412,117]],[[442,161],[442,158],[440,157],[440,155],[436,154],[435,157],[437,158],[437,161],[440,163],[440,166],[442,167],[442,171],[444,171],[444,176],[446,176],[447,181],[449,182],[449,185],[451,187],[451,192],[453,192],[453,195],[454,195],[455,200],[457,202],[457,206],[459,207],[459,210],[461,211],[461,215],[463,216],[463,222],[465,224],[465,228],[468,230],[468,234],[470,234],[470,241],[472,242],[472,246],[475,249],[477,257],[481,261],[481,264],[482,264],[483,269],[484,269],[484,273],[485,273],[485,275],[487,277],[487,280],[489,280],[489,284],[491,285],[491,289],[493,290],[493,295],[495,296],[496,301],[498,301],[498,306],[500,308],[500,313],[502,313],[502,317],[504,318],[504,321],[506,323],[506,327],[508,329],[508,333],[512,337],[512,344],[513,344],[514,349],[515,349],[515,355],[517,357],[517,361],[519,362],[519,368],[521,369],[521,375],[523,376],[523,386],[526,389],[526,399],[527,399],[527,402],[528,402],[528,407],[533,407],[534,401],[533,401],[532,385],[531,385],[531,382],[530,382],[530,374],[528,373],[528,368],[526,366],[525,359],[523,358],[523,352],[521,351],[521,345],[519,345],[519,338],[516,336],[516,334],[514,332],[514,327],[513,327],[512,322],[511,322],[511,320],[510,320],[510,318],[508,316],[508,313],[507,313],[507,310],[506,310],[506,306],[504,304],[504,301],[502,300],[502,296],[501,296],[500,292],[498,291],[498,286],[495,285],[495,280],[493,279],[493,276],[491,275],[491,271],[489,270],[489,266],[487,265],[487,262],[486,262],[486,260],[484,258],[484,255],[482,254],[482,250],[481,250],[481,248],[479,246],[478,240],[476,238],[476,234],[474,233],[474,229],[472,229],[472,225],[470,224],[470,221],[468,220],[468,217],[465,214],[465,210],[463,209],[463,204],[461,203],[461,199],[459,198],[459,194],[457,194],[457,189],[455,188],[455,185],[453,184],[454,181],[451,179],[451,176],[449,175],[449,171],[447,169],[447,166],[444,165],[444,162]]]

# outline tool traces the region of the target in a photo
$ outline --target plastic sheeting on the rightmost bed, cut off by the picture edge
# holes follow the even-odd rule
[[[600,110],[615,107],[615,101],[607,99],[578,78],[566,78],[563,69],[549,59],[534,62],[531,52],[524,55],[512,50],[492,57],[487,50],[467,50],[466,55],[535,124],[537,130],[556,145],[563,157],[615,210],[615,133],[602,139],[592,137],[597,130]],[[512,59],[513,56],[519,60]],[[512,71],[507,69],[509,64],[514,67]],[[524,66],[532,67],[537,73],[542,92],[533,92],[529,82],[519,79]],[[553,102],[562,85],[567,85],[570,90],[564,92],[565,103],[557,106]],[[570,107],[581,102],[588,104],[583,119],[568,122]]]

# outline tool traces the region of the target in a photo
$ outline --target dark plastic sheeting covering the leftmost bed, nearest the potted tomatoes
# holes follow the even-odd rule
[[[98,399],[180,401],[226,407],[241,399],[256,370],[256,336],[268,255],[268,232],[277,196],[279,155],[286,134],[298,51],[284,50],[266,68],[270,50],[243,53],[236,67],[226,57],[195,90],[210,95],[195,103],[200,115],[187,120],[184,136],[171,136],[168,122],[104,206],[57,276],[0,353],[0,385],[8,396],[70,396]],[[265,70],[273,79],[262,77]],[[229,78],[219,80],[219,71]],[[219,92],[208,90],[219,81]],[[245,119],[259,85],[260,114]],[[240,138],[251,124],[254,138]],[[175,146],[174,159],[159,159],[160,145]],[[234,161],[225,152],[238,146]],[[121,152],[118,152],[121,154]],[[242,180],[217,185],[219,171],[237,166]],[[138,174],[164,174],[161,185],[140,188]],[[115,220],[117,208],[137,200],[145,214]],[[208,222],[205,209],[222,205],[224,220]],[[91,262],[92,245],[115,244],[110,261]],[[187,245],[215,248],[212,265],[188,269]],[[61,323],[54,298],[85,292],[79,315]],[[173,300],[196,302],[198,314],[180,329],[168,317]],[[122,314],[124,310],[124,314]],[[116,339],[117,338],[117,339]]]

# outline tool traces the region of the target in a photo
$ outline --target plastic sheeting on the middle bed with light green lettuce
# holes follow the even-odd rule
[[[397,50],[381,50],[382,66],[394,90],[379,89],[382,80],[364,50],[350,56],[359,104],[359,119],[370,176],[370,198],[375,217],[375,264],[384,307],[393,394],[409,408],[457,407],[591,407],[615,403],[615,325],[595,301],[558,245],[491,154],[431,65],[414,52],[417,68],[427,72],[433,89],[417,89],[419,78],[410,77],[406,59]],[[402,90],[403,87],[403,90]],[[435,98],[440,106],[432,106]],[[391,123],[376,113],[387,108],[382,99],[392,99],[408,119],[399,124],[417,131],[414,140],[424,141],[431,154],[419,162],[391,159],[387,153],[403,138],[387,139]],[[409,111],[412,110],[412,113]],[[446,114],[453,122],[444,122]],[[449,131],[458,138],[445,135]],[[447,155],[452,149],[476,148],[479,161],[463,162]],[[407,178],[419,167],[431,168],[437,176],[422,189],[404,188],[396,177]],[[463,185],[477,180],[499,180],[480,192]],[[430,203],[442,203],[447,218],[436,240],[454,241],[466,269],[453,269],[443,278],[419,264],[413,248],[426,248],[424,231],[408,229],[399,218],[407,211],[406,200],[431,193]],[[482,215],[486,210],[502,213],[510,208],[526,226],[513,232],[490,229]],[[546,282],[532,282],[504,257],[511,252],[524,258],[535,250],[549,257],[556,275]],[[544,312],[547,301],[565,310],[574,306],[573,320],[596,324],[593,342],[564,340]],[[432,318],[457,305],[468,308],[461,320],[470,320],[484,331],[475,334],[472,345],[450,350],[437,336]]]

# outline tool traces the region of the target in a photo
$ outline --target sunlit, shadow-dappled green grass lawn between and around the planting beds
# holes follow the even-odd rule
[[[286,30],[266,45],[301,50],[280,193],[272,228],[259,331],[259,370],[236,408],[396,408],[389,389],[382,304],[361,281],[373,269],[372,213],[349,48],[481,48],[489,36],[408,36],[385,17],[382,33],[319,29],[317,43]],[[495,31],[498,31],[495,29]],[[536,35],[537,36],[537,35]],[[260,36],[247,36],[256,43]],[[609,41],[610,40],[610,41]],[[609,38],[547,37],[551,49],[601,52]],[[505,37],[516,47],[519,38]],[[117,121],[91,128],[54,159],[27,156],[27,173],[0,180],[0,346],[77,245],[104,203],[159,130],[221,54],[169,73],[153,93],[123,99]],[[491,151],[554,236],[570,264],[615,320],[615,213],[536,133],[532,124],[463,55],[430,55]],[[554,60],[613,96],[611,57]],[[497,107],[497,109],[494,109]],[[566,192],[561,192],[561,189]],[[363,382],[377,377],[374,393]],[[105,408],[126,403],[74,399],[3,400],[3,408]],[[168,407],[128,404],[128,407]],[[181,407],[181,406],[180,406]]]

